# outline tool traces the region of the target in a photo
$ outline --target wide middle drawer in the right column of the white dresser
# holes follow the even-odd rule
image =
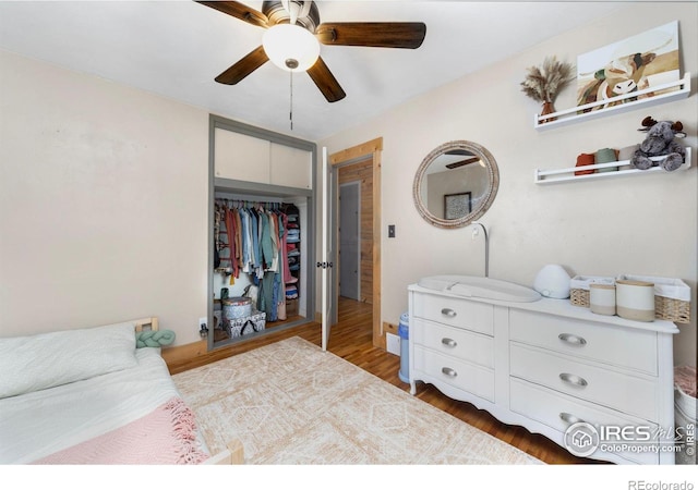
[[[647,420],[658,419],[655,381],[516,343],[512,343],[509,352],[512,376]]]

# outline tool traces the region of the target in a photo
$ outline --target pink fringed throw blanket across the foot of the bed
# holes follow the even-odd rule
[[[194,414],[172,397],[123,427],[34,462],[39,465],[198,464],[209,456],[196,440]]]

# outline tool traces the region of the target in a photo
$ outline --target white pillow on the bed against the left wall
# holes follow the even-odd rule
[[[132,322],[0,339],[0,399],[136,365]]]

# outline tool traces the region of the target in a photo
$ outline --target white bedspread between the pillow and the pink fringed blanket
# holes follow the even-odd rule
[[[0,464],[39,462],[147,420],[180,396],[159,350],[139,348],[136,358],[139,366],[132,369],[1,399]],[[209,452],[201,436],[198,443]],[[156,453],[137,463],[152,463],[148,458]]]

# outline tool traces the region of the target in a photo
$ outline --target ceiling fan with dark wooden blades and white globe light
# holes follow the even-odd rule
[[[263,45],[218,75],[216,82],[234,85],[272,60],[290,72],[306,71],[329,102],[344,99],[346,94],[320,57],[320,44],[416,49],[422,45],[426,34],[426,25],[421,22],[321,24],[320,11],[314,1],[265,1],[262,3],[262,12],[236,1],[197,3],[267,29],[264,33]],[[293,37],[293,40],[290,37]],[[305,48],[297,48],[297,38]],[[306,49],[306,52],[303,49]]]

